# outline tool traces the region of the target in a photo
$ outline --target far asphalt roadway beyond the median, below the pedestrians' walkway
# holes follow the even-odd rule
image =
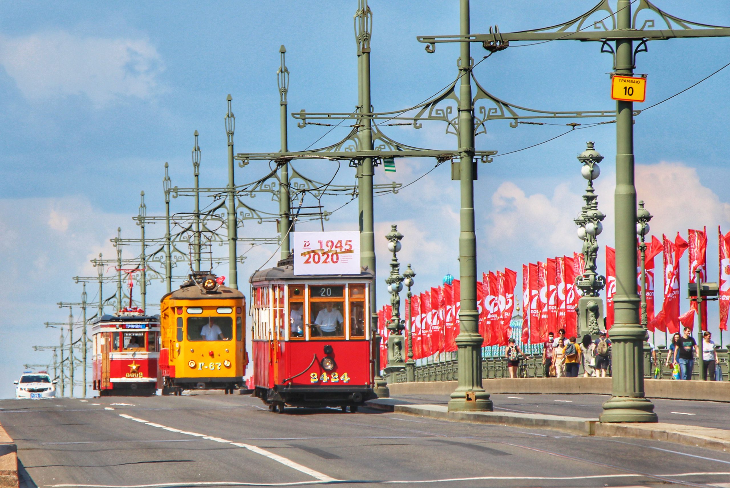
[[[448,395],[399,395],[411,403],[445,405]],[[491,395],[495,411],[513,411],[526,414],[566,415],[568,417],[596,418],[604,401],[610,395]],[[683,425],[701,425],[730,430],[730,403],[694,400],[664,400],[653,398],[654,411],[659,422]]]

